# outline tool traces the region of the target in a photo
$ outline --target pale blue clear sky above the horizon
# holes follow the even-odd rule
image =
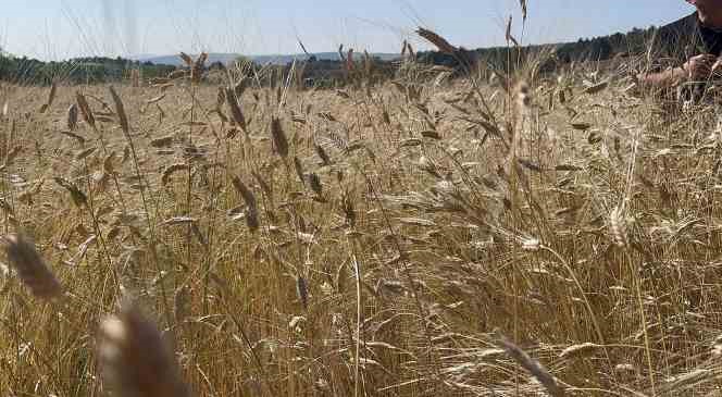
[[[575,41],[663,25],[694,10],[683,0],[0,0],[0,47],[42,60],[233,52],[399,52],[431,28],[465,48]]]

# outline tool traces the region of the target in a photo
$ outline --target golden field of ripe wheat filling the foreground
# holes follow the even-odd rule
[[[525,70],[2,86],[0,395],[719,393],[714,109]]]

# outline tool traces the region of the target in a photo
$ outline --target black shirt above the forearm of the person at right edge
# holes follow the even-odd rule
[[[656,58],[684,63],[702,53],[719,57],[722,52],[722,30],[704,26],[695,12],[662,26],[655,37]],[[675,64],[679,66],[680,64]]]

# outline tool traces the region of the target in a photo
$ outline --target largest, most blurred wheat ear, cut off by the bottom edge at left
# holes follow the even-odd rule
[[[130,302],[100,325],[103,381],[122,397],[190,395],[173,352],[153,323]]]

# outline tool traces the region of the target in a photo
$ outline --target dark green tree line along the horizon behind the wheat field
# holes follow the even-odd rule
[[[546,57],[544,57],[545,62],[542,64],[542,70],[553,71],[556,67],[571,62],[607,61],[617,57],[644,53],[656,29],[655,26],[647,29],[633,28],[625,34],[615,33],[609,36],[583,38],[575,42],[546,46],[461,49],[463,57],[426,51],[419,52],[416,61],[459,70],[469,66],[470,63],[481,63],[494,69],[510,71],[544,53]],[[378,59],[374,59],[373,63],[377,69],[386,72],[394,65],[394,62]],[[263,69],[261,65],[252,65],[256,70]],[[223,67],[225,67],[223,64],[208,65],[209,70]],[[312,58],[303,62],[303,76],[299,77],[337,79],[344,76],[343,72],[346,67],[345,61]],[[281,69],[290,69],[290,65],[281,66]],[[61,62],[42,62],[26,57],[13,57],[0,48],[0,80],[14,84],[49,85],[58,80],[69,84],[104,84],[127,79],[132,71],[138,71],[141,78],[148,80],[165,77],[175,70],[176,66],[173,65],[132,61],[120,57],[88,57]]]

